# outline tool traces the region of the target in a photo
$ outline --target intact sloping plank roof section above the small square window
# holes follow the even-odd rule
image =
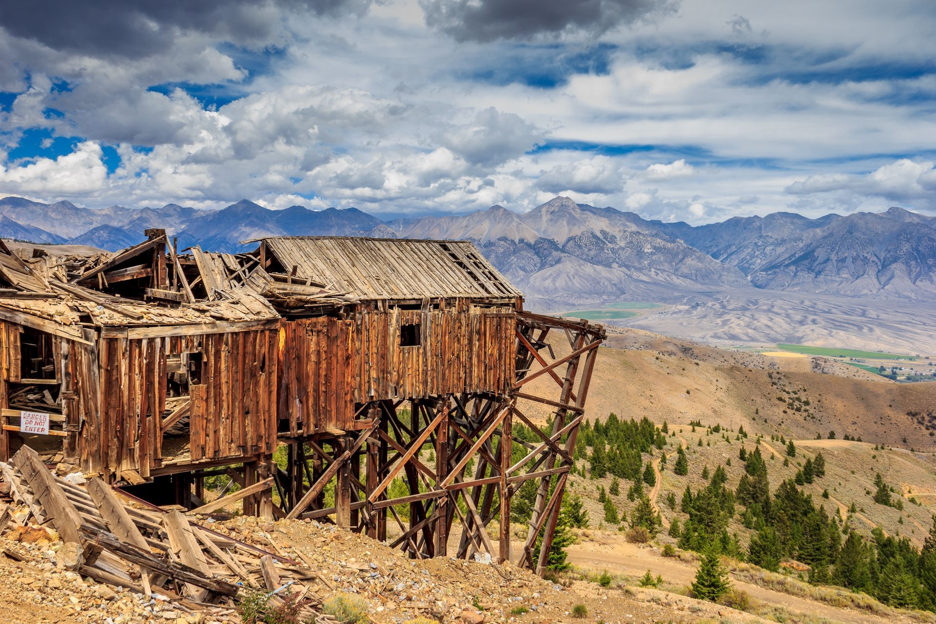
[[[262,239],[297,281],[361,299],[509,298],[522,294],[467,240]]]

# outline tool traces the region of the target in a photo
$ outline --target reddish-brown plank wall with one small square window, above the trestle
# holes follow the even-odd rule
[[[418,327],[418,345],[401,345],[403,325]],[[510,308],[392,309],[358,312],[346,321],[284,320],[280,418],[292,435],[347,430],[355,428],[355,403],[505,394],[514,377],[515,327]]]

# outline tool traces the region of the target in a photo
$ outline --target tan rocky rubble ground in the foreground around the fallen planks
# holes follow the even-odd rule
[[[410,560],[370,538],[316,522],[239,517],[211,524],[214,530],[307,562],[319,573],[319,579],[302,596],[303,600],[320,604],[338,592],[356,594],[368,602],[367,616],[375,624],[400,624],[416,617],[457,624],[695,622],[707,617],[760,621],[724,606],[665,591],[601,588],[588,581],[568,579],[557,584],[509,564],[451,558]],[[0,621],[217,621],[213,616],[186,614],[159,597],[146,600],[139,593],[68,572],[59,561],[63,547],[54,530],[9,525],[0,537]],[[572,616],[577,605],[584,606],[586,616]]]

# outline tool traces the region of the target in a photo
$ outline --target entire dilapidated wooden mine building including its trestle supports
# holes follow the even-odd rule
[[[469,241],[271,237],[218,254],[146,236],[91,256],[0,241],[0,458],[26,444],[164,508],[242,501],[417,559],[542,572],[603,327],[525,312]],[[545,431],[525,414],[543,406]],[[511,499],[530,480],[512,559]]]

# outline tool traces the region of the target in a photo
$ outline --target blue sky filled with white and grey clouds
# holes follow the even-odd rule
[[[0,5],[0,196],[936,213],[936,3]]]

